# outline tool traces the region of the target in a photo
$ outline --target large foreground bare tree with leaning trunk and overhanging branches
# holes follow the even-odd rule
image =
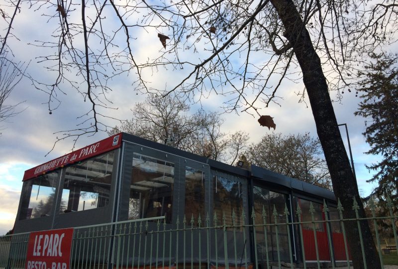
[[[16,12],[20,1],[9,1]],[[359,216],[365,216],[329,90],[337,90],[339,99],[340,89],[355,83],[352,74],[361,68],[363,54],[396,40],[397,4],[367,0],[26,1],[49,12],[49,25],[54,27],[48,40],[34,44],[51,51],[38,60],[58,76],[34,86],[46,91],[49,100],[58,100],[56,93],[69,87],[92,104],[79,128],[63,137],[106,129],[102,120],[108,116],[100,110],[110,104],[108,83],[122,74],[134,74],[135,90],[155,92],[147,83],[151,75],[184,72],[186,76],[178,81],[169,76],[167,85],[173,86],[166,88],[165,95],[173,91],[187,97],[225,95],[227,111],[257,116],[264,106],[278,102],[285,78],[302,78],[304,90],[298,95],[304,101],[308,98],[344,215],[355,217],[351,208],[357,199]],[[149,36],[161,39],[161,50],[139,60],[133,41],[142,38],[142,29],[147,31],[148,43]],[[82,83],[84,89],[79,87]],[[50,112],[56,108],[51,105]],[[380,268],[370,229],[366,222],[361,225],[367,267]],[[354,264],[362,268],[357,229],[354,223],[347,224]]]

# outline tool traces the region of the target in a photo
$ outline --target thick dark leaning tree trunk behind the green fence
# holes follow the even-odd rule
[[[353,210],[354,198],[359,205],[359,217],[365,217],[362,201],[359,198],[357,182],[344,148],[336,116],[330,100],[325,76],[319,56],[312,45],[308,31],[299,16],[292,0],[271,0],[281,18],[286,32],[285,37],[293,45],[293,50],[303,74],[304,85],[311,104],[316,131],[325,154],[332,179],[333,190],[344,207],[344,218],[356,218]],[[361,232],[365,256],[362,255],[361,240],[357,221],[344,222],[349,249],[356,269],[380,269],[381,264],[367,221],[361,221]]]

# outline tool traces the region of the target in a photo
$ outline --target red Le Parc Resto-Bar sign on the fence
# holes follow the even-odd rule
[[[73,228],[32,232],[25,269],[69,269]]]

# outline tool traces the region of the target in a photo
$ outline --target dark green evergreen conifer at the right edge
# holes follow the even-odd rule
[[[358,92],[363,95],[357,116],[366,118],[363,133],[371,149],[367,154],[380,155],[381,160],[367,166],[376,174],[369,182],[378,182],[374,190],[382,200],[387,194],[397,205],[398,189],[398,55],[371,54],[374,63],[361,72],[364,79]],[[383,202],[383,201],[382,201]]]

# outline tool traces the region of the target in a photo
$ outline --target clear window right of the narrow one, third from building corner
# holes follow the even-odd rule
[[[242,183],[222,176],[214,176],[213,181],[214,213],[217,214],[218,224],[222,224],[222,217],[225,214],[225,224],[232,225],[232,212],[235,212],[235,225],[243,225]],[[240,230],[243,230],[242,227],[240,227]]]

